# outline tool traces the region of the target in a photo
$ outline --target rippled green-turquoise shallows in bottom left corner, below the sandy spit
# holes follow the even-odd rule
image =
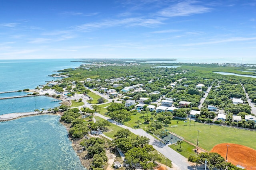
[[[0,136],[1,170],[84,170],[59,116],[0,122]]]

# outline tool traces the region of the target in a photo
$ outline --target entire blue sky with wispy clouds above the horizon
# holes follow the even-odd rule
[[[256,0],[0,0],[0,16],[0,59],[256,60]]]

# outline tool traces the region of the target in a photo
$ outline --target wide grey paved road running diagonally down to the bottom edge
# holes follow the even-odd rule
[[[154,149],[156,149],[158,152],[163,154],[166,158],[170,159],[175,167],[175,170],[188,170],[188,169],[193,169],[192,166],[190,166],[190,163],[188,162],[187,158],[179,154],[178,152],[174,151],[167,145],[162,144],[159,140],[155,139],[152,137],[150,134],[148,134],[146,131],[142,129],[132,129],[128,126],[122,125],[121,123],[117,123],[116,121],[104,117],[103,115],[99,113],[95,113],[96,116],[105,118],[108,120],[110,123],[113,123],[115,125],[118,125],[119,127],[122,127],[124,129],[129,129],[132,133],[140,136],[146,136],[150,139],[149,144],[153,145]],[[174,169],[173,169],[174,170]]]

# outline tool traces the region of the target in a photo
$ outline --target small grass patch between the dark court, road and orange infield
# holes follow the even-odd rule
[[[196,156],[196,152],[194,152],[194,146],[190,145],[189,143],[183,141],[181,144],[181,149],[182,151],[179,152],[177,149],[180,149],[180,145],[169,145],[170,148],[172,148],[173,150],[175,150],[176,152],[180,153],[182,156],[188,158],[188,156],[190,155],[194,155]]]

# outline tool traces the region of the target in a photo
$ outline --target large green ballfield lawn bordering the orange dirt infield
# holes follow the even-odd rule
[[[172,122],[173,123],[171,125],[177,124],[175,121]],[[166,129],[184,137],[185,140],[190,141],[195,145],[198,136],[198,147],[202,147],[208,151],[220,143],[235,143],[256,149],[255,142],[253,142],[256,138],[255,131],[219,125],[210,126],[203,123],[194,123],[194,121],[191,122],[191,130],[189,130],[189,121],[187,123],[184,123],[184,121],[179,121],[178,127],[168,127]]]

